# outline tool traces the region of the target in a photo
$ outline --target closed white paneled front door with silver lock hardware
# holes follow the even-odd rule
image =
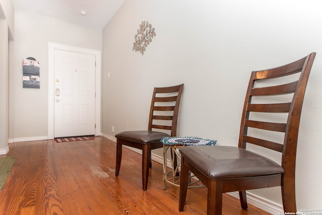
[[[95,55],[55,50],[54,137],[95,134]]]

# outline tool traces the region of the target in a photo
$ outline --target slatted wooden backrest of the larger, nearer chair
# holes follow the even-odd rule
[[[284,66],[253,71],[246,93],[238,147],[254,144],[281,152],[286,175],[294,174],[288,171],[295,169],[300,115],[314,57],[313,52]]]

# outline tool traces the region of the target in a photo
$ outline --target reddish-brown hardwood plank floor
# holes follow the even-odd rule
[[[162,164],[153,162],[147,191],[142,190],[141,155],[123,148],[115,177],[116,143],[95,140],[39,140],[9,144],[16,161],[0,191],[2,214],[206,214],[206,188],[188,190],[178,210],[179,188],[163,190]],[[224,194],[223,214],[269,214]]]

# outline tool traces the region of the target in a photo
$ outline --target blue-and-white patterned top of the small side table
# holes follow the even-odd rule
[[[178,137],[178,136],[168,136],[163,137],[160,140],[164,145],[170,146],[214,146],[216,145],[217,140],[212,139],[203,139],[196,136],[185,136],[185,137]]]

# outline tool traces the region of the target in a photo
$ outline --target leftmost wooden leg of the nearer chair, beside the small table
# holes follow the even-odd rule
[[[185,158],[181,158],[181,176],[180,176],[180,193],[179,193],[179,211],[183,211],[186,203],[189,168],[184,164]]]

